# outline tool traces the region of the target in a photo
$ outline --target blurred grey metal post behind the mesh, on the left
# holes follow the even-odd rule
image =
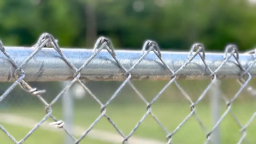
[[[62,82],[62,87],[66,87],[70,82]],[[67,90],[62,96],[62,112],[63,112],[63,121],[65,122],[65,128],[68,132],[73,133],[73,93],[70,90]],[[74,140],[68,135],[65,135],[65,144],[74,143]]]

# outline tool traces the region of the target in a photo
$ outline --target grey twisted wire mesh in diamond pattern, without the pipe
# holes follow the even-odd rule
[[[151,116],[156,123],[163,129],[163,131],[166,133],[166,138],[167,138],[167,143],[171,144],[172,143],[172,138],[175,136],[175,133],[178,132],[180,130],[180,128],[189,120],[189,118],[191,116],[194,116],[196,118],[196,120],[198,121],[198,123],[200,124],[201,128],[204,130],[205,132],[205,143],[209,143],[211,142],[211,134],[212,132],[216,129],[216,127],[221,123],[221,121],[223,120],[223,118],[230,113],[233,118],[236,120],[236,123],[238,124],[238,126],[241,128],[240,132],[242,132],[241,138],[238,141],[238,143],[242,143],[245,139],[246,139],[246,128],[250,125],[250,123],[253,121],[254,117],[256,116],[256,112],[252,115],[252,117],[248,120],[248,123],[245,125],[240,124],[240,122],[237,120],[236,116],[232,113],[231,110],[231,106],[232,103],[236,100],[236,98],[238,97],[238,95],[242,92],[242,90],[247,90],[249,92],[251,92],[252,94],[255,93],[254,89],[252,87],[248,86],[248,83],[250,82],[250,80],[252,79],[251,74],[249,73],[250,69],[252,68],[252,66],[255,64],[256,62],[256,50],[250,51],[248,53],[253,53],[254,56],[254,60],[253,62],[245,69],[243,67],[243,65],[240,63],[239,61],[239,53],[237,50],[237,47],[235,45],[227,45],[225,48],[225,53],[224,53],[224,57],[223,57],[223,62],[219,65],[219,67],[217,69],[215,69],[214,71],[212,71],[212,69],[208,66],[206,60],[205,60],[205,51],[204,51],[204,46],[202,44],[194,44],[191,49],[190,52],[188,54],[188,59],[187,61],[177,70],[177,71],[173,71],[167,64],[166,62],[162,59],[162,55],[161,55],[161,51],[157,45],[156,42],[154,41],[146,41],[143,45],[141,54],[140,54],[140,59],[137,60],[137,62],[130,68],[130,69],[126,69],[123,64],[119,61],[119,59],[116,57],[116,52],[115,49],[113,48],[110,40],[108,38],[105,37],[100,37],[97,41],[96,44],[94,46],[93,52],[91,57],[86,60],[84,62],[84,64],[80,67],[80,68],[76,68],[71,62],[70,60],[68,60],[68,58],[63,54],[63,52],[61,51],[59,45],[57,44],[56,40],[53,38],[52,35],[44,33],[39,37],[38,42],[36,43],[36,45],[33,46],[34,47],[34,51],[29,55],[29,57],[23,61],[21,63],[21,65],[18,65],[15,60],[13,59],[13,56],[9,55],[9,53],[6,51],[6,49],[4,48],[2,42],[0,42],[0,49],[1,52],[3,52],[3,54],[6,56],[6,58],[12,63],[12,65],[16,68],[15,72],[13,73],[13,75],[16,78],[16,81],[1,95],[0,97],[0,102],[4,100],[4,98],[6,98],[8,96],[8,94],[13,90],[13,88],[16,85],[20,85],[21,88],[23,88],[26,92],[30,93],[31,95],[35,95],[36,97],[38,97],[38,99],[45,105],[45,113],[46,115],[44,116],[44,118],[30,131],[28,132],[28,134],[20,141],[17,141],[2,125],[0,125],[1,130],[8,135],[8,137],[15,143],[15,144],[21,144],[23,143],[25,140],[27,140],[27,138],[29,136],[31,136],[31,134],[41,125],[44,123],[44,121],[47,118],[52,118],[54,120],[54,125],[57,126],[57,128],[63,129],[73,140],[75,144],[78,144],[80,141],[82,141],[84,139],[84,137],[92,130],[92,128],[94,127],[94,125],[103,117],[105,117],[110,124],[113,125],[113,127],[115,127],[116,131],[123,137],[123,143],[127,143],[129,141],[129,138],[133,135],[133,133],[139,128],[140,124],[143,123],[144,119],[147,116]],[[44,100],[44,98],[41,96],[42,93],[45,92],[45,90],[37,90],[36,88],[30,86],[29,84],[27,84],[23,79],[25,77],[25,72],[22,69],[27,63],[28,61],[30,61],[41,49],[43,49],[44,47],[52,47],[56,52],[59,53],[59,55],[61,56],[61,58],[63,60],[65,60],[65,62],[68,64],[68,66],[70,68],[72,68],[74,70],[74,79],[71,81],[71,83],[65,87],[50,103],[46,102],[46,100]],[[101,50],[106,49],[108,51],[108,53],[112,56],[112,58],[116,61],[116,63],[118,64],[119,68],[121,70],[123,70],[124,72],[124,77],[125,80],[124,82],[119,86],[119,88],[114,92],[114,94],[111,96],[111,98],[104,104],[102,103],[97,96],[95,96],[89,89],[87,86],[84,85],[84,83],[82,81],[79,80],[81,74],[80,72],[86,68],[86,66],[95,58],[95,56],[97,56]],[[171,76],[170,76],[170,81],[163,87],[163,89],[158,92],[158,94],[155,96],[155,98],[151,101],[147,101],[145,99],[145,97],[136,89],[136,87],[131,83],[131,72],[132,70],[138,66],[144,59],[145,57],[151,52],[153,51],[156,55],[156,57],[162,62],[162,65],[170,72]],[[176,79],[177,79],[177,75],[197,56],[199,55],[202,62],[204,63],[205,69],[211,73],[210,77],[211,83],[205,88],[205,90],[201,93],[201,95],[199,95],[198,99],[196,101],[192,101],[190,96],[188,95],[188,93],[177,83]],[[220,116],[220,119],[218,120],[218,122],[212,127],[212,129],[207,130],[206,127],[204,126],[204,124],[202,123],[202,121],[200,120],[199,116],[197,116],[196,114],[196,105],[204,99],[206,93],[208,92],[208,90],[212,87],[212,86],[216,86],[215,81],[217,80],[218,77],[218,71],[228,62],[229,59],[234,58],[236,60],[236,64],[237,66],[241,69],[241,74],[240,74],[240,78],[237,80],[237,82],[241,85],[240,89],[236,92],[236,94],[233,96],[232,99],[228,100],[225,96],[223,97],[223,100],[225,100],[226,105],[227,105],[227,109],[226,111],[222,114],[222,116]],[[244,79],[244,76],[247,76],[247,79]],[[79,84],[81,84],[83,86],[83,88],[92,96],[92,98],[94,100],[97,101],[97,103],[100,104],[100,110],[101,113],[98,116],[98,118],[91,124],[91,126],[83,133],[83,135],[80,138],[76,138],[75,136],[73,136],[70,132],[68,132],[65,129],[65,124],[63,121],[58,120],[56,117],[54,117],[52,115],[52,105],[54,105],[63,95],[64,92],[66,92],[75,82],[78,82]],[[191,112],[188,114],[187,117],[184,118],[184,120],[177,126],[176,129],[174,129],[172,132],[169,132],[163,124],[161,124],[161,122],[157,119],[157,117],[153,114],[152,112],[152,108],[151,106],[154,104],[154,102],[160,97],[160,95],[164,92],[164,90],[170,86],[171,84],[175,84],[177,86],[177,88],[180,90],[180,92],[184,95],[184,97],[190,102],[190,108],[191,108]],[[140,121],[134,126],[134,128],[131,130],[131,132],[128,135],[124,135],[124,133],[116,126],[116,124],[111,120],[111,118],[106,114],[106,108],[108,107],[108,105],[111,103],[111,101],[113,99],[115,99],[115,97],[117,96],[117,94],[123,89],[123,87],[128,84],[132,87],[132,89],[138,94],[138,96],[140,97],[141,100],[144,101],[145,103],[145,107],[147,108],[147,111],[145,112],[144,116],[142,116],[142,118],[140,119]]]

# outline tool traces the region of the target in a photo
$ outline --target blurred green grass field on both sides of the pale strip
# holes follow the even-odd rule
[[[62,112],[60,106],[52,107],[53,115],[57,118],[62,118]],[[222,107],[222,113],[225,110],[225,105]],[[232,106],[232,112],[237,116],[239,122],[245,125],[255,111],[255,106],[252,102],[234,103]],[[175,130],[180,122],[190,113],[189,104],[180,103],[157,103],[152,106],[152,112],[160,120],[160,122],[167,128],[169,132]],[[44,114],[43,107],[20,107],[20,108],[7,108],[1,110],[1,113],[12,113],[21,116],[30,117],[39,120],[42,119]],[[107,115],[113,120],[117,127],[128,135],[135,125],[140,121],[142,116],[146,113],[145,105],[109,105],[107,107]],[[211,110],[209,104],[199,104],[196,107],[196,114],[202,120],[207,132],[212,128]],[[96,106],[75,106],[74,121],[75,125],[84,128],[84,131],[89,127],[92,122],[100,115],[100,107]],[[50,118],[48,120],[51,120]],[[22,138],[29,129],[23,127],[16,127],[9,124],[2,124],[13,136],[17,139]],[[246,140],[251,143],[256,143],[256,122],[253,121],[247,129]],[[93,129],[106,130],[109,132],[116,132],[115,128],[108,122],[105,117],[102,117],[100,121],[95,125]],[[236,121],[228,114],[224,120],[220,123],[220,136],[221,142],[224,144],[237,143],[241,138],[239,133],[239,126]],[[135,131],[134,136],[152,138],[162,140],[166,142],[166,135],[161,127],[154,121],[152,116],[148,116],[145,121]],[[0,132],[0,139],[3,143],[9,144],[10,140],[2,132]],[[199,144],[204,143],[206,140],[206,134],[201,129],[199,123],[194,116],[190,117],[188,122],[185,123],[178,131],[173,135],[172,141],[174,144]],[[46,130],[36,130],[32,134],[25,144],[32,143],[62,143],[63,135],[60,132],[50,132]],[[2,143],[1,142],[1,143]],[[95,141],[89,138],[82,140],[82,143],[103,143],[107,142]]]

